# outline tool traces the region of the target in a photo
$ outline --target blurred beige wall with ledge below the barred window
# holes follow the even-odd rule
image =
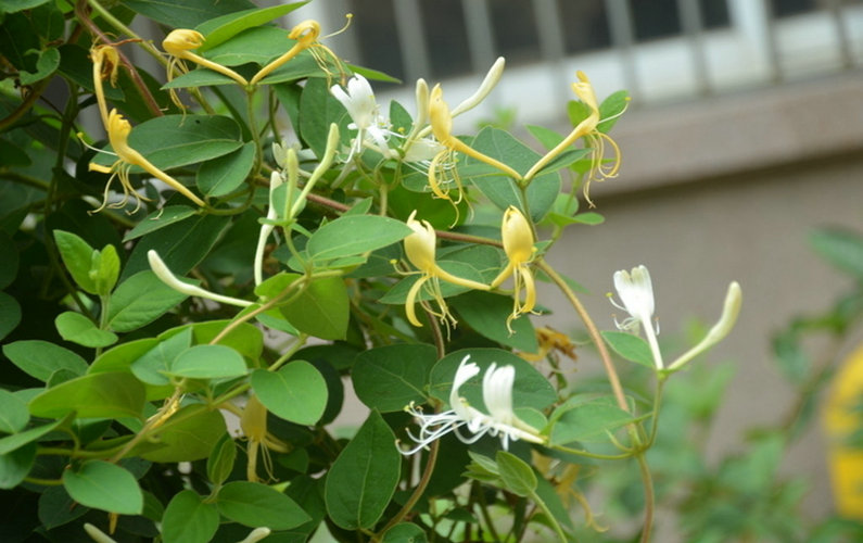
[[[808,235],[825,225],[863,231],[861,98],[863,77],[852,73],[630,112],[615,128],[620,177],[592,188],[606,224],[571,227],[549,256],[592,291],[583,302],[604,329],[620,314],[605,298],[617,269],[648,266],[664,333],[690,317],[712,323],[728,281],[740,282],[737,327],[710,356],[737,365],[709,438],[714,457],[791,405],[771,334],[792,316],[827,308],[850,285],[813,256]],[[541,300],[556,312],[548,321],[576,328],[564,301],[544,287]],[[580,364],[598,368],[589,353]],[[829,507],[823,453],[821,434],[810,432],[785,466],[812,476],[813,514]]]

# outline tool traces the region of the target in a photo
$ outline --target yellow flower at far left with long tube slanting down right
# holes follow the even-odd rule
[[[155,167],[150,161],[144,159],[144,156],[132,149],[129,146],[128,138],[129,132],[131,132],[131,125],[128,121],[123,118],[123,115],[117,113],[117,110],[111,110],[111,113],[107,115],[107,125],[105,126],[107,129],[107,139],[111,141],[111,147],[114,149],[114,153],[117,155],[116,162],[111,166],[102,166],[101,164],[93,164],[90,163],[90,171],[92,172],[100,172],[102,174],[113,174],[111,179],[107,180],[105,184],[105,192],[104,199],[102,200],[102,205],[99,206],[93,213],[98,213],[107,207],[123,207],[126,205],[126,202],[129,201],[129,194],[134,194],[136,200],[138,201],[138,205],[135,207],[135,211],[138,211],[141,204],[141,200],[147,200],[147,198],[138,194],[135,191],[135,188],[131,186],[131,181],[129,180],[129,171],[132,166],[140,166],[143,168],[148,174],[152,175],[153,177],[163,180],[172,188],[180,192],[182,195],[194,202],[195,204],[200,205],[201,207],[205,207],[206,204],[203,200],[194,195],[192,191],[187,189],[181,182],[169,176],[168,174],[162,172],[157,167]],[[107,204],[107,192],[111,188],[111,181],[114,177],[119,178],[119,182],[123,186],[123,200],[117,203]],[[132,212],[134,213],[134,212]]]

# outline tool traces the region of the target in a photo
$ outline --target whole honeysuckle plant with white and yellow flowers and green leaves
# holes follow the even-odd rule
[[[546,260],[596,223],[579,194],[618,173],[625,91],[600,102],[573,74],[572,131],[525,142],[454,123],[504,59],[453,109],[424,79],[386,102],[394,79],[317,21],[275,23],[305,2],[25,3],[0,3],[29,51],[0,40],[23,89],[3,87],[0,121],[16,541],[566,542],[602,508],[570,501],[580,468],[615,463],[640,467],[651,538],[663,383],[729,333],[741,294],[665,365],[647,268],[595,286],[629,315],[600,332],[613,310],[588,315]],[[37,100],[52,80],[65,105]],[[542,321],[538,280],[592,345]],[[604,386],[563,368],[576,350]]]

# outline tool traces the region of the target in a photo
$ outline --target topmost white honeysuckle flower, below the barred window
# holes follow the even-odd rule
[[[357,131],[348,160],[355,153],[361,152],[366,144],[390,157],[392,151],[386,143],[386,137],[390,135],[386,129],[388,122],[380,114],[380,108],[375,100],[375,91],[371,90],[368,79],[359,74],[354,74],[347,80],[347,92],[340,85],[333,85],[330,87],[330,93],[344,105],[347,114],[351,115],[353,123],[347,127]]]

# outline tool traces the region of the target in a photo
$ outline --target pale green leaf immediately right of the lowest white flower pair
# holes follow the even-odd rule
[[[632,422],[632,415],[621,409],[612,396],[573,396],[551,414],[551,445],[574,441],[600,442],[607,432]]]

